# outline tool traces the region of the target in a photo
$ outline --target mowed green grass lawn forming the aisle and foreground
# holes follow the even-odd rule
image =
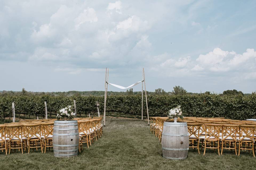
[[[55,158],[53,151],[41,154],[19,152],[5,155],[0,152],[0,169],[252,169],[256,167],[256,158],[252,153],[207,150],[206,155],[198,155],[189,150],[186,160],[162,158],[161,144],[150,134],[146,121],[138,119],[106,118],[103,136],[90,148],[77,157]]]

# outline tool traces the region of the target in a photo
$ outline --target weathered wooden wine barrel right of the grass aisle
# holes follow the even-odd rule
[[[189,150],[187,122],[164,122],[161,144],[164,158],[186,159]]]

